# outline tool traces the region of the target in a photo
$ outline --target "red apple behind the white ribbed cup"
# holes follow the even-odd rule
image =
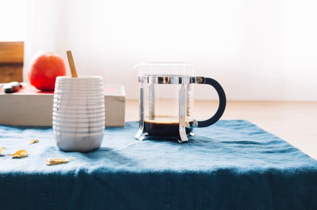
[[[54,91],[56,77],[65,75],[64,59],[46,51],[35,53],[27,69],[30,84],[42,91]]]

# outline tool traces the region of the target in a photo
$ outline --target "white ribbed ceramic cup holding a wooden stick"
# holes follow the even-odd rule
[[[101,76],[58,76],[53,103],[53,134],[59,149],[89,152],[100,147],[105,124]]]

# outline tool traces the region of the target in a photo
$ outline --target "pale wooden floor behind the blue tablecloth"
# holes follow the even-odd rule
[[[126,121],[138,120],[138,101],[126,102]],[[194,117],[207,119],[215,101],[195,101]],[[246,119],[317,160],[317,102],[228,101],[221,119]]]

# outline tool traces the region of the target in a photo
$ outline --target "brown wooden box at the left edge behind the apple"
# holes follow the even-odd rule
[[[23,81],[23,41],[0,41],[0,83]]]

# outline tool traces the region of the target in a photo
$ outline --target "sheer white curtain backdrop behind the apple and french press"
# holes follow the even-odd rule
[[[25,67],[38,50],[65,61],[71,50],[78,74],[102,75],[137,99],[134,65],[192,62],[229,100],[317,101],[316,8],[314,0],[29,0]],[[195,98],[216,95],[197,87]]]

